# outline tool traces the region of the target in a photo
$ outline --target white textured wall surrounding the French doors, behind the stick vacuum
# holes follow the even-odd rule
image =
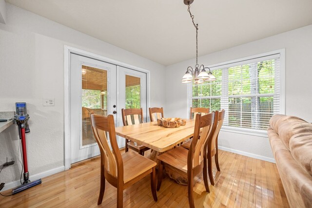
[[[15,102],[27,103],[31,132],[26,134],[26,139],[31,176],[63,170],[64,45],[149,70],[151,106],[164,105],[165,88],[157,83],[163,79],[163,65],[11,4],[6,7],[6,24],[0,23],[0,111],[15,111]],[[43,107],[42,98],[55,98],[55,106]],[[18,147],[17,126],[12,125],[0,133],[0,164],[6,157],[17,158]],[[20,180],[20,171],[20,162],[3,169],[0,182]]]

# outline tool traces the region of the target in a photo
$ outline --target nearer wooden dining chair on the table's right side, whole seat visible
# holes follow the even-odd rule
[[[207,178],[207,142],[213,128],[215,113],[206,115],[196,114],[194,139],[190,150],[183,147],[176,147],[158,156],[158,184],[157,190],[160,189],[162,180],[163,166],[169,166],[183,178],[187,178],[189,205],[194,208],[194,178],[203,173],[206,191],[209,192]],[[201,136],[199,137],[200,129]],[[205,162],[206,161],[206,162]]]

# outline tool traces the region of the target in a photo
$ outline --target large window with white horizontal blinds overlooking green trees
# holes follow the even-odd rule
[[[284,113],[281,57],[283,51],[211,67],[215,81],[189,84],[189,107],[225,109],[223,129],[266,133],[273,114]]]

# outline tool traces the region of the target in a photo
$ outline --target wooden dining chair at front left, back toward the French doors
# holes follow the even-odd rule
[[[105,192],[105,179],[117,188],[117,208],[122,208],[123,190],[133,185],[148,174],[151,175],[151,189],[155,201],[156,195],[156,162],[133,151],[121,154],[117,145],[114,116],[107,117],[92,113],[91,124],[94,137],[101,152],[100,190],[98,205],[102,203]],[[106,135],[109,135],[108,144]]]

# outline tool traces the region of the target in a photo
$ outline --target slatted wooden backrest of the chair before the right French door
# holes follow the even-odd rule
[[[124,126],[143,123],[143,109],[121,109],[122,123]]]

